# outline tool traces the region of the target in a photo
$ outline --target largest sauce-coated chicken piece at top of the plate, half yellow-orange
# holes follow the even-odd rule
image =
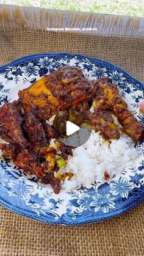
[[[65,66],[19,91],[18,96],[15,104],[22,113],[33,112],[38,119],[48,120],[70,106],[88,109],[92,87],[81,68]]]

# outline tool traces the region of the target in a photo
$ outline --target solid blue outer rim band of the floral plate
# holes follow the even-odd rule
[[[115,64],[112,64],[111,62],[108,62],[106,60],[103,60],[103,59],[98,59],[98,58],[95,58],[95,57],[89,57],[89,56],[85,56],[83,54],[71,54],[71,53],[39,53],[39,54],[32,54],[32,55],[28,55],[28,56],[23,56],[23,57],[20,57],[18,59],[15,59],[15,60],[12,60],[11,62],[7,63],[7,64],[4,64],[4,65],[1,65],[0,66],[0,73],[2,73],[2,70],[4,70],[4,68],[6,68],[7,66],[12,66],[12,65],[16,65],[18,63],[20,63],[21,61],[24,61],[24,60],[31,60],[31,59],[34,59],[34,57],[54,57],[54,56],[71,56],[71,57],[74,57],[74,56],[77,56],[77,57],[82,57],[82,58],[87,58],[88,60],[91,60],[92,62],[101,62],[102,64],[106,64],[106,65],[109,65],[111,66],[112,68],[117,68],[117,70],[123,72],[124,75],[126,75],[128,78],[134,80],[135,82],[139,83],[142,85],[143,89],[144,89],[144,84],[139,81],[138,79],[134,78],[134,76],[130,75],[127,71],[123,70],[123,68],[120,68],[118,67],[117,65]],[[143,189],[143,192],[144,192],[144,185],[142,186],[142,189]],[[127,199],[128,200],[128,199]],[[99,214],[101,215],[102,217],[101,218],[98,218],[98,216],[90,216],[89,219],[85,219],[85,218],[81,218],[79,219],[78,221],[74,221],[74,220],[70,220],[70,221],[67,221],[65,219],[63,219],[62,217],[60,217],[60,220],[48,220],[48,218],[45,218],[45,216],[38,216],[36,213],[32,212],[32,213],[29,213],[29,211],[27,210],[23,210],[22,208],[19,208],[19,207],[15,207],[13,205],[11,205],[9,202],[7,202],[3,197],[1,197],[0,195],[0,205],[2,207],[5,207],[7,210],[10,210],[12,211],[13,213],[17,213],[19,214],[20,216],[24,216],[26,218],[29,218],[29,219],[32,219],[32,220],[35,220],[35,221],[39,221],[39,222],[44,222],[46,224],[52,224],[52,225],[70,225],[70,226],[74,226],[74,225],[84,225],[84,224],[92,224],[92,223],[95,223],[95,222],[99,222],[99,221],[104,221],[106,219],[110,219],[110,218],[113,218],[113,217],[116,217],[120,214],[123,214],[123,213],[126,213],[126,211],[129,211],[131,210],[133,207],[135,207],[136,205],[138,205],[140,202],[142,202],[144,200],[144,193],[131,199],[130,201],[131,202],[128,202],[128,205],[125,205],[124,208],[121,207],[121,208],[117,208],[117,210],[113,211],[112,213],[104,213],[102,216],[102,214]]]

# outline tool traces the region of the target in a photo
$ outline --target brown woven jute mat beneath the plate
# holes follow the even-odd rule
[[[0,31],[0,64],[35,53],[80,53],[119,65],[144,82],[144,38],[32,29]],[[144,255],[144,203],[109,221],[66,227],[0,207],[0,255]]]

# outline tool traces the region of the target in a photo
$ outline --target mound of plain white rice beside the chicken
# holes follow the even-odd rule
[[[109,143],[99,133],[92,131],[88,141],[73,150],[73,156],[68,156],[67,166],[60,170],[73,173],[71,180],[67,177],[64,183],[62,181],[62,188],[67,191],[81,186],[89,188],[95,180],[104,183],[104,172],[107,171],[111,179],[124,168],[134,167],[133,160],[138,156],[134,142],[126,134]]]

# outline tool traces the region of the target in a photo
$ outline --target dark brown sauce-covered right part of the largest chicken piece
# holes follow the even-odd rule
[[[81,68],[64,66],[58,68],[46,78],[46,87],[59,99],[60,110],[83,106],[92,100],[92,87],[82,73]]]

